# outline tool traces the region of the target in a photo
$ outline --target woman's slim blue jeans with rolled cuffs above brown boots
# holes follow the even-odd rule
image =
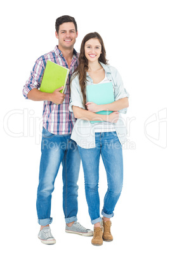
[[[91,223],[101,221],[100,197],[98,194],[100,155],[107,173],[108,190],[101,214],[114,216],[114,208],[121,195],[123,183],[122,146],[116,132],[96,132],[96,148],[79,148],[84,169],[85,192]]]

